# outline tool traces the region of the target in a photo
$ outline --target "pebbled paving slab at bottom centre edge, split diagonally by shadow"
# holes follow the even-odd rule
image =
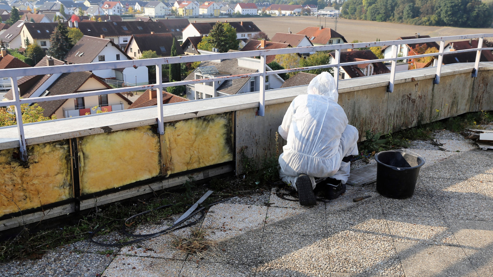
[[[327,238],[314,235],[264,233],[263,263],[256,276],[328,276],[330,256]]]

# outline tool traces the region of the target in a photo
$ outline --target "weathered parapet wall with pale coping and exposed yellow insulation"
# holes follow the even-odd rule
[[[360,133],[395,132],[420,123],[493,109],[493,64],[444,66],[340,82],[339,104]],[[0,231],[182,184],[241,173],[241,153],[261,162],[282,151],[278,126],[306,86],[163,106],[165,134],[156,132],[156,107],[25,125],[29,161],[21,163],[15,126],[0,128]],[[437,111],[439,110],[439,111]],[[277,143],[276,143],[276,139]],[[73,142],[73,143],[72,143]]]

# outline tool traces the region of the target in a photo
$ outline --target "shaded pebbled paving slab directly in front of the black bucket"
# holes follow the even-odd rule
[[[380,198],[385,214],[410,216],[435,216],[440,214],[433,198],[428,196],[413,196],[407,199]]]

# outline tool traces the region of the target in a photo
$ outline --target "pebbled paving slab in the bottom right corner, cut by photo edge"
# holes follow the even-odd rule
[[[479,276],[493,273],[493,222],[450,220],[454,236]]]

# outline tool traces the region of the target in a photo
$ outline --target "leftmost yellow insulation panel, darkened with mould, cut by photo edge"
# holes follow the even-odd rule
[[[18,149],[0,150],[0,216],[72,197],[68,140],[29,145],[28,161]]]

